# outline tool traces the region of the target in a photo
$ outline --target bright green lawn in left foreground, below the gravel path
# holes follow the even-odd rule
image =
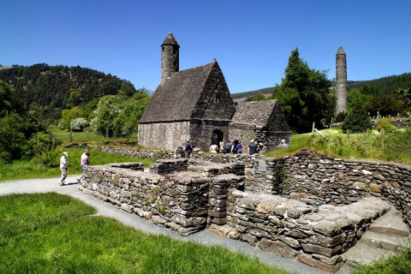
[[[0,273],[287,273],[223,247],[152,236],[57,193],[0,197]]]

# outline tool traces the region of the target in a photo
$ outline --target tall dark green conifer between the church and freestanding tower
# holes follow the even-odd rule
[[[291,52],[282,84],[275,89],[273,98],[282,105],[288,125],[295,132],[309,132],[312,122],[321,125],[321,119],[334,114],[335,95],[327,71],[310,69],[299,58],[298,49]]]

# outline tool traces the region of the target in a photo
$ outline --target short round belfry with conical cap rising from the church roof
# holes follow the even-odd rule
[[[179,71],[179,45],[173,34],[169,32],[161,45],[161,83]]]

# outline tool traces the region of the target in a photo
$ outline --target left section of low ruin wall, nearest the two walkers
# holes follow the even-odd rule
[[[173,167],[188,170],[187,159],[159,160],[157,171]],[[227,216],[227,193],[243,186],[243,164],[195,166],[190,171],[166,175],[145,173],[142,163],[84,166],[82,190],[127,212],[169,227],[186,236],[206,225],[223,225]],[[193,172],[195,171],[195,172]]]

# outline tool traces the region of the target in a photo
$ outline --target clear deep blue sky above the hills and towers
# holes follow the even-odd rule
[[[3,0],[0,64],[82,66],[136,88],[160,84],[160,45],[173,32],[180,70],[219,62],[232,93],[280,84],[290,53],[335,78],[411,72],[410,0]]]

